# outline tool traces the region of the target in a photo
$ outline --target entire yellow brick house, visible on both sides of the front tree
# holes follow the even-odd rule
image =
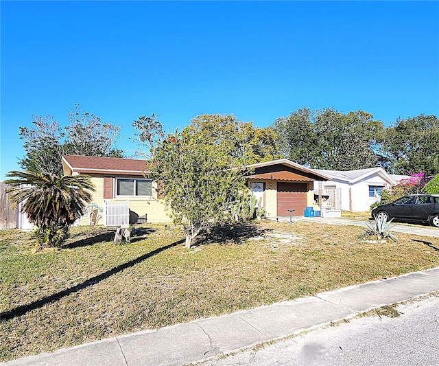
[[[91,176],[96,188],[80,225],[120,225],[120,216],[127,216],[128,210],[129,223],[171,221],[154,190],[156,182],[147,177],[150,171],[145,160],[64,155],[62,167],[65,175]],[[248,187],[258,200],[262,198],[269,218],[289,216],[289,209],[302,216],[305,207],[313,206],[313,183],[331,179],[288,159],[246,168],[251,172]]]

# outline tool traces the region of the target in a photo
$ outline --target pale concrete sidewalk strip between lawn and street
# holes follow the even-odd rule
[[[184,365],[436,291],[439,291],[439,267],[221,317],[117,336],[1,365]]]

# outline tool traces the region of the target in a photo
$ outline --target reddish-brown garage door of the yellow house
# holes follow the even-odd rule
[[[277,216],[289,216],[287,209],[294,209],[293,215],[303,215],[307,207],[307,183],[277,183]]]

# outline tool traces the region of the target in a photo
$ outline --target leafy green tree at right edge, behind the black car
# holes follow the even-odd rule
[[[394,174],[439,173],[439,119],[435,115],[418,115],[396,119],[385,128],[379,150],[385,168]]]

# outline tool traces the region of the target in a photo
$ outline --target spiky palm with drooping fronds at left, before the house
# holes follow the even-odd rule
[[[56,176],[45,173],[20,172],[6,174],[19,179],[8,179],[9,200],[14,207],[21,203],[36,229],[40,247],[60,247],[69,235],[69,228],[82,216],[95,190],[89,176]]]

